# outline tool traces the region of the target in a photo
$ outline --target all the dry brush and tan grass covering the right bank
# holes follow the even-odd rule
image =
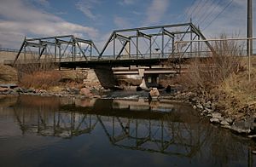
[[[233,42],[216,42],[216,55],[190,62],[188,71],[178,80],[183,88],[194,91],[201,101],[213,101],[220,112],[245,115],[256,111],[256,68],[248,82],[247,58],[240,58],[241,46]],[[256,60],[252,57],[252,64]]]

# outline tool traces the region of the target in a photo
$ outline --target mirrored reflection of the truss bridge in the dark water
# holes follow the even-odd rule
[[[200,149],[204,141],[201,136],[206,136],[202,134],[207,130],[198,126],[199,119],[193,114],[188,116],[186,107],[163,103],[147,108],[142,101],[130,102],[97,100],[87,107],[73,103],[60,108],[14,108],[23,134],[72,138],[100,129],[116,147],[186,157]],[[169,111],[162,112],[163,108]]]

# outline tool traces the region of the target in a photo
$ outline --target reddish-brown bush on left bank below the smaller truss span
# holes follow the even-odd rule
[[[20,78],[20,86],[33,89],[48,89],[58,85],[61,80],[61,73],[57,71],[33,72],[24,74]]]

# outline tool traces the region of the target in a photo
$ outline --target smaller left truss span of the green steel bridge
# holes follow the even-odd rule
[[[23,59],[19,59],[21,53],[23,53]],[[46,60],[52,62],[91,60],[92,55],[99,54],[99,50],[92,40],[85,40],[73,35],[25,37],[15,57],[14,64],[18,59],[19,61]]]

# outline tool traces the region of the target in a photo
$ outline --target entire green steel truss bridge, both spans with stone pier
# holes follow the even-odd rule
[[[112,88],[116,85],[112,68],[117,66],[151,67],[168,61],[174,71],[180,72],[182,60],[198,56],[193,48],[199,50],[201,45],[192,41],[201,39],[206,37],[191,22],[116,30],[101,52],[92,40],[73,35],[25,38],[15,60],[5,64],[54,63],[60,68],[93,68],[102,86]],[[184,40],[191,43],[177,43]],[[214,52],[211,44],[205,43]]]

